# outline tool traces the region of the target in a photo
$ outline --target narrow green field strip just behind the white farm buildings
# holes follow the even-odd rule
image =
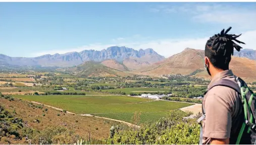
[[[121,88],[121,89],[109,89],[102,90],[102,92],[125,92],[126,94],[130,93],[144,93],[144,92],[168,92],[170,89],[167,88]]]

